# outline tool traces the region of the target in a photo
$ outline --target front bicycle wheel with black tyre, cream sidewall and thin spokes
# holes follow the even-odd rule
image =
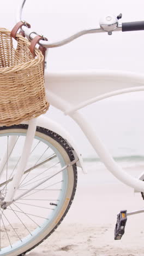
[[[4,169],[0,182],[1,199],[7,194],[8,183],[19,164],[27,127],[0,127],[0,158],[3,152],[9,152],[10,138],[15,136],[10,156],[8,153],[1,167]],[[14,202],[6,210],[0,210],[0,256],[25,254],[43,242],[61,223],[74,199],[77,183],[76,164],[64,170],[62,167],[73,160],[73,150],[61,136],[37,127]]]

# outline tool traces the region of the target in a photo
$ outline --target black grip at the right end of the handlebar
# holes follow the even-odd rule
[[[135,22],[124,22],[122,23],[122,31],[136,31],[144,30],[144,21],[135,21]]]

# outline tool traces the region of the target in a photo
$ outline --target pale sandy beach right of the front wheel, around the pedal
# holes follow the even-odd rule
[[[97,166],[97,165],[96,165]],[[29,256],[143,256],[143,214],[129,216],[122,240],[113,239],[117,213],[140,210],[139,193],[117,181],[103,166],[79,171],[77,193],[67,216],[53,234]],[[139,176],[143,166],[127,168]]]

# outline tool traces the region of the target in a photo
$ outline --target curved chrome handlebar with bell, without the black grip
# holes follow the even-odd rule
[[[16,15],[16,22],[21,21],[21,15],[22,15],[22,10],[23,6],[25,5],[26,0],[22,0],[19,9],[17,10],[17,15]],[[22,30],[25,32],[25,36],[29,39],[32,40],[35,36],[37,36],[37,33],[35,33],[31,28],[27,28],[26,26],[22,26]],[[100,26],[97,28],[91,28],[89,30],[82,30],[80,32],[77,32],[73,34],[73,36],[70,36],[64,40],[58,41],[58,42],[52,42],[49,43],[45,40],[40,40],[39,44],[44,46],[45,48],[55,48],[59,47],[65,44],[68,44],[75,40],[76,38],[79,38],[83,36],[84,34],[92,34],[92,33],[102,33],[102,32],[107,32],[108,34],[112,34],[113,31],[122,31],[122,25],[118,24],[117,18],[115,16],[110,15],[106,16],[105,18],[101,19],[100,21]]]

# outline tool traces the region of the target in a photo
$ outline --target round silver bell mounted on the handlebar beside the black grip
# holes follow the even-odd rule
[[[117,17],[115,15],[107,15],[103,18],[100,18],[99,25],[108,34],[112,34],[112,31],[118,27],[118,20],[122,18],[122,14],[119,14]]]

